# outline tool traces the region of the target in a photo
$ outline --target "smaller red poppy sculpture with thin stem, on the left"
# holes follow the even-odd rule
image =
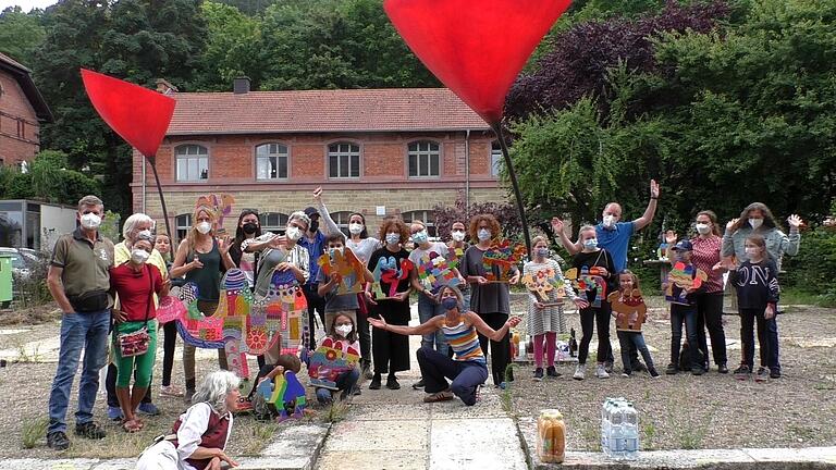
[[[157,174],[156,158],[157,149],[160,148],[174,114],[176,101],[148,88],[86,69],[82,69],[82,81],[87,97],[101,119],[148,159],[160,195],[165,230],[172,233],[165,198]]]

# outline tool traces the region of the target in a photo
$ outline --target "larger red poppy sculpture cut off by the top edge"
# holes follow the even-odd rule
[[[517,199],[526,247],[528,222],[502,133],[505,96],[570,0],[385,0],[395,29],[418,59],[496,133]]]

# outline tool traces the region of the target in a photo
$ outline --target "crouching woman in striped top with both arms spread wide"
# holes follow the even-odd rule
[[[444,401],[456,395],[465,405],[472,406],[476,404],[477,387],[488,380],[484,355],[476,333],[500,342],[508,334],[508,329],[519,324],[520,319],[512,317],[500,330],[493,330],[476,313],[462,311],[462,293],[453,286],[443,287],[438,301],[444,307],[445,314],[433,317],[418,326],[390,325],[382,318],[369,318],[369,323],[402,335],[423,335],[441,330],[455,356],[451,359],[428,347],[418,349],[418,366],[427,392],[423,400]],[[447,379],[453,383],[447,384]]]

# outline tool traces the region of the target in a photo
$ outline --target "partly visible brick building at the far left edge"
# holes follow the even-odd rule
[[[40,151],[40,124],[52,121],[30,71],[0,53],[0,165],[21,165]]]

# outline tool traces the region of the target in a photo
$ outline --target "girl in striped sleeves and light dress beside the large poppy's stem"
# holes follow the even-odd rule
[[[544,236],[536,236],[531,240],[533,256],[522,267],[522,274],[538,275],[540,272],[552,270],[556,279],[565,283],[566,297],[579,308],[589,306],[575,295],[569,281],[563,277],[563,271],[557,261],[550,258],[549,242]],[[557,289],[548,293],[548,299],[540,299],[534,294],[528,294],[528,335],[534,342],[534,381],[543,380],[543,349],[548,359],[545,374],[556,378],[561,374],[554,368],[554,356],[557,347],[557,333],[566,333],[566,319],[563,317],[563,306],[558,304]],[[545,305],[549,304],[549,305]],[[543,348],[545,346],[545,348]]]

